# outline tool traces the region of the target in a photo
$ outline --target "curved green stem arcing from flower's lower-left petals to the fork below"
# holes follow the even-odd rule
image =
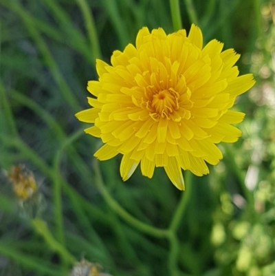
[[[116,202],[110,195],[109,191],[104,187],[104,183],[102,181],[102,176],[100,173],[100,169],[98,166],[98,160],[95,160],[94,162],[94,171],[96,173],[96,185],[100,192],[102,193],[102,196],[104,200],[107,202],[109,207],[120,217],[122,217],[123,220],[131,224],[136,229],[142,231],[143,233],[146,233],[148,235],[152,235],[153,237],[167,237],[168,231],[165,229],[157,229],[153,226],[150,226],[144,222],[141,222],[140,220],[137,220],[135,217],[130,215],[127,211],[125,211],[118,202]]]

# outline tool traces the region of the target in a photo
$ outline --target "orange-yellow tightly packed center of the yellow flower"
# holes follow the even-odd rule
[[[179,109],[178,97],[179,94],[174,89],[162,90],[153,95],[151,107],[162,118],[168,118],[169,114],[173,113],[173,110]]]

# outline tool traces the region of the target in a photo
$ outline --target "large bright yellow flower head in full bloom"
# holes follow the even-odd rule
[[[121,153],[123,180],[138,164],[148,178],[155,167],[164,167],[181,190],[181,169],[209,173],[206,162],[223,158],[216,144],[241,136],[232,124],[245,114],[230,108],[255,83],[252,74],[238,76],[234,63],[240,55],[222,49],[217,40],[203,47],[195,25],[188,36],[185,30],[166,35],[162,28],[142,28],[136,47],[113,52],[111,65],[98,60],[99,81],[87,87],[96,97],[88,98],[92,108],[76,114],[94,123],[85,132],[104,142],[94,156],[107,160]]]

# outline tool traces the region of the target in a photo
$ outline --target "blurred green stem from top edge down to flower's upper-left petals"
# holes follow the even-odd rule
[[[76,0],[80,10],[85,19],[85,25],[89,36],[91,52],[93,53],[94,59],[102,59],[102,54],[100,50],[100,43],[98,39],[98,34],[96,32],[96,24],[94,22],[93,14],[90,12],[90,8],[86,0]]]

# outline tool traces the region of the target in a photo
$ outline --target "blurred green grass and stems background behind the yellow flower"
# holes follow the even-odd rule
[[[188,193],[162,168],[122,182],[121,156],[96,164],[102,183],[100,141],[74,116],[88,108],[96,59],[109,63],[143,26],[174,31],[170,2],[0,0],[0,275],[69,275],[83,258],[113,276],[275,275],[275,1],[179,7],[183,28],[234,47],[241,74],[257,81],[236,102],[243,137],[220,145],[209,176],[186,175]],[[17,164],[38,185],[25,201],[8,178]],[[168,229],[179,202],[173,235],[146,229]]]

